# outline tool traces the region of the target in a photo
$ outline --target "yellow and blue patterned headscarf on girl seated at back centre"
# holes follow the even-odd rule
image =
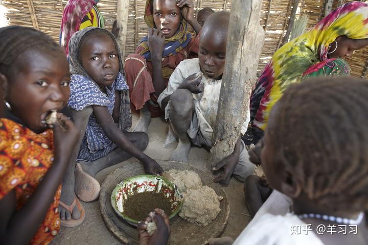
[[[153,0],[146,1],[146,10],[144,19],[149,28],[155,28],[153,13],[151,12],[150,8],[151,1]],[[165,39],[163,57],[168,57],[179,53],[183,48],[185,48],[189,44],[190,40],[192,39],[192,36],[193,34],[187,31],[187,21],[182,19],[180,22],[180,27],[178,31],[174,34],[174,36]],[[140,52],[140,55],[145,57],[147,61],[151,61],[151,53],[148,48],[147,40],[148,36],[145,36],[140,41],[138,46],[143,47],[143,50]]]

